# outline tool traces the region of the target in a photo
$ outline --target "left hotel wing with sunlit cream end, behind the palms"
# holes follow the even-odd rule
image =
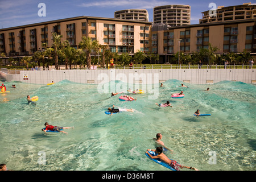
[[[52,46],[52,32],[63,35],[78,48],[82,36],[109,45],[112,52],[150,51],[151,22],[78,16],[43,23],[0,29],[0,52],[7,56],[32,55],[47,43]]]

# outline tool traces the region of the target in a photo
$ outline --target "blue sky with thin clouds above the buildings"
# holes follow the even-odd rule
[[[149,21],[153,22],[153,9],[163,5],[190,5],[191,24],[198,24],[201,12],[212,9],[209,3],[216,6],[242,5],[254,1],[211,0],[211,1],[170,1],[170,0],[0,0],[0,28],[15,27],[25,24],[46,22],[75,16],[98,16],[114,18],[114,11],[124,9],[147,9]],[[46,16],[38,16],[39,3],[46,5]]]

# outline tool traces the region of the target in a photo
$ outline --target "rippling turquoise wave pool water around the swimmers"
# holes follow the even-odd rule
[[[120,95],[98,93],[97,85],[5,82],[10,93],[0,94],[0,163],[13,170],[164,171],[168,169],[145,155],[155,147],[152,138],[162,133],[164,144],[174,150],[167,156],[186,166],[255,170],[255,85],[222,81],[180,88],[181,83],[164,82],[156,100],[146,93],[133,95],[137,101],[122,102]],[[180,90],[184,98],[171,98]],[[36,105],[27,104],[28,94],[39,96]],[[166,101],[173,107],[155,105]],[[113,104],[134,112],[110,117],[104,111]],[[196,109],[212,115],[195,117]],[[46,135],[41,131],[45,122],[74,129],[65,130],[68,135]],[[42,158],[45,164],[39,162]]]

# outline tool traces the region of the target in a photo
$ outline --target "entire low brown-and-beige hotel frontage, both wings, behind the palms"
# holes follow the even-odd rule
[[[174,26],[152,27],[152,22],[79,16],[0,29],[0,52],[6,56],[22,57],[43,50],[42,43],[52,46],[52,32],[63,35],[71,46],[79,48],[82,36],[109,45],[112,52],[137,51],[158,53],[159,63],[170,62],[178,51],[192,53],[218,47],[217,53],[242,52],[256,54],[256,18]],[[6,59],[7,59],[6,57]]]

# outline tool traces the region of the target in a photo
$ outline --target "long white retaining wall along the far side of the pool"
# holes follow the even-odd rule
[[[20,75],[0,72],[7,81],[22,81],[32,84],[48,84],[52,81],[69,80],[79,83],[100,84],[111,80],[152,84],[176,79],[191,84],[211,84],[224,80],[256,83],[256,69],[98,69],[98,70],[53,70],[20,71]],[[27,80],[24,80],[26,78]],[[155,80],[154,80],[155,78]]]

